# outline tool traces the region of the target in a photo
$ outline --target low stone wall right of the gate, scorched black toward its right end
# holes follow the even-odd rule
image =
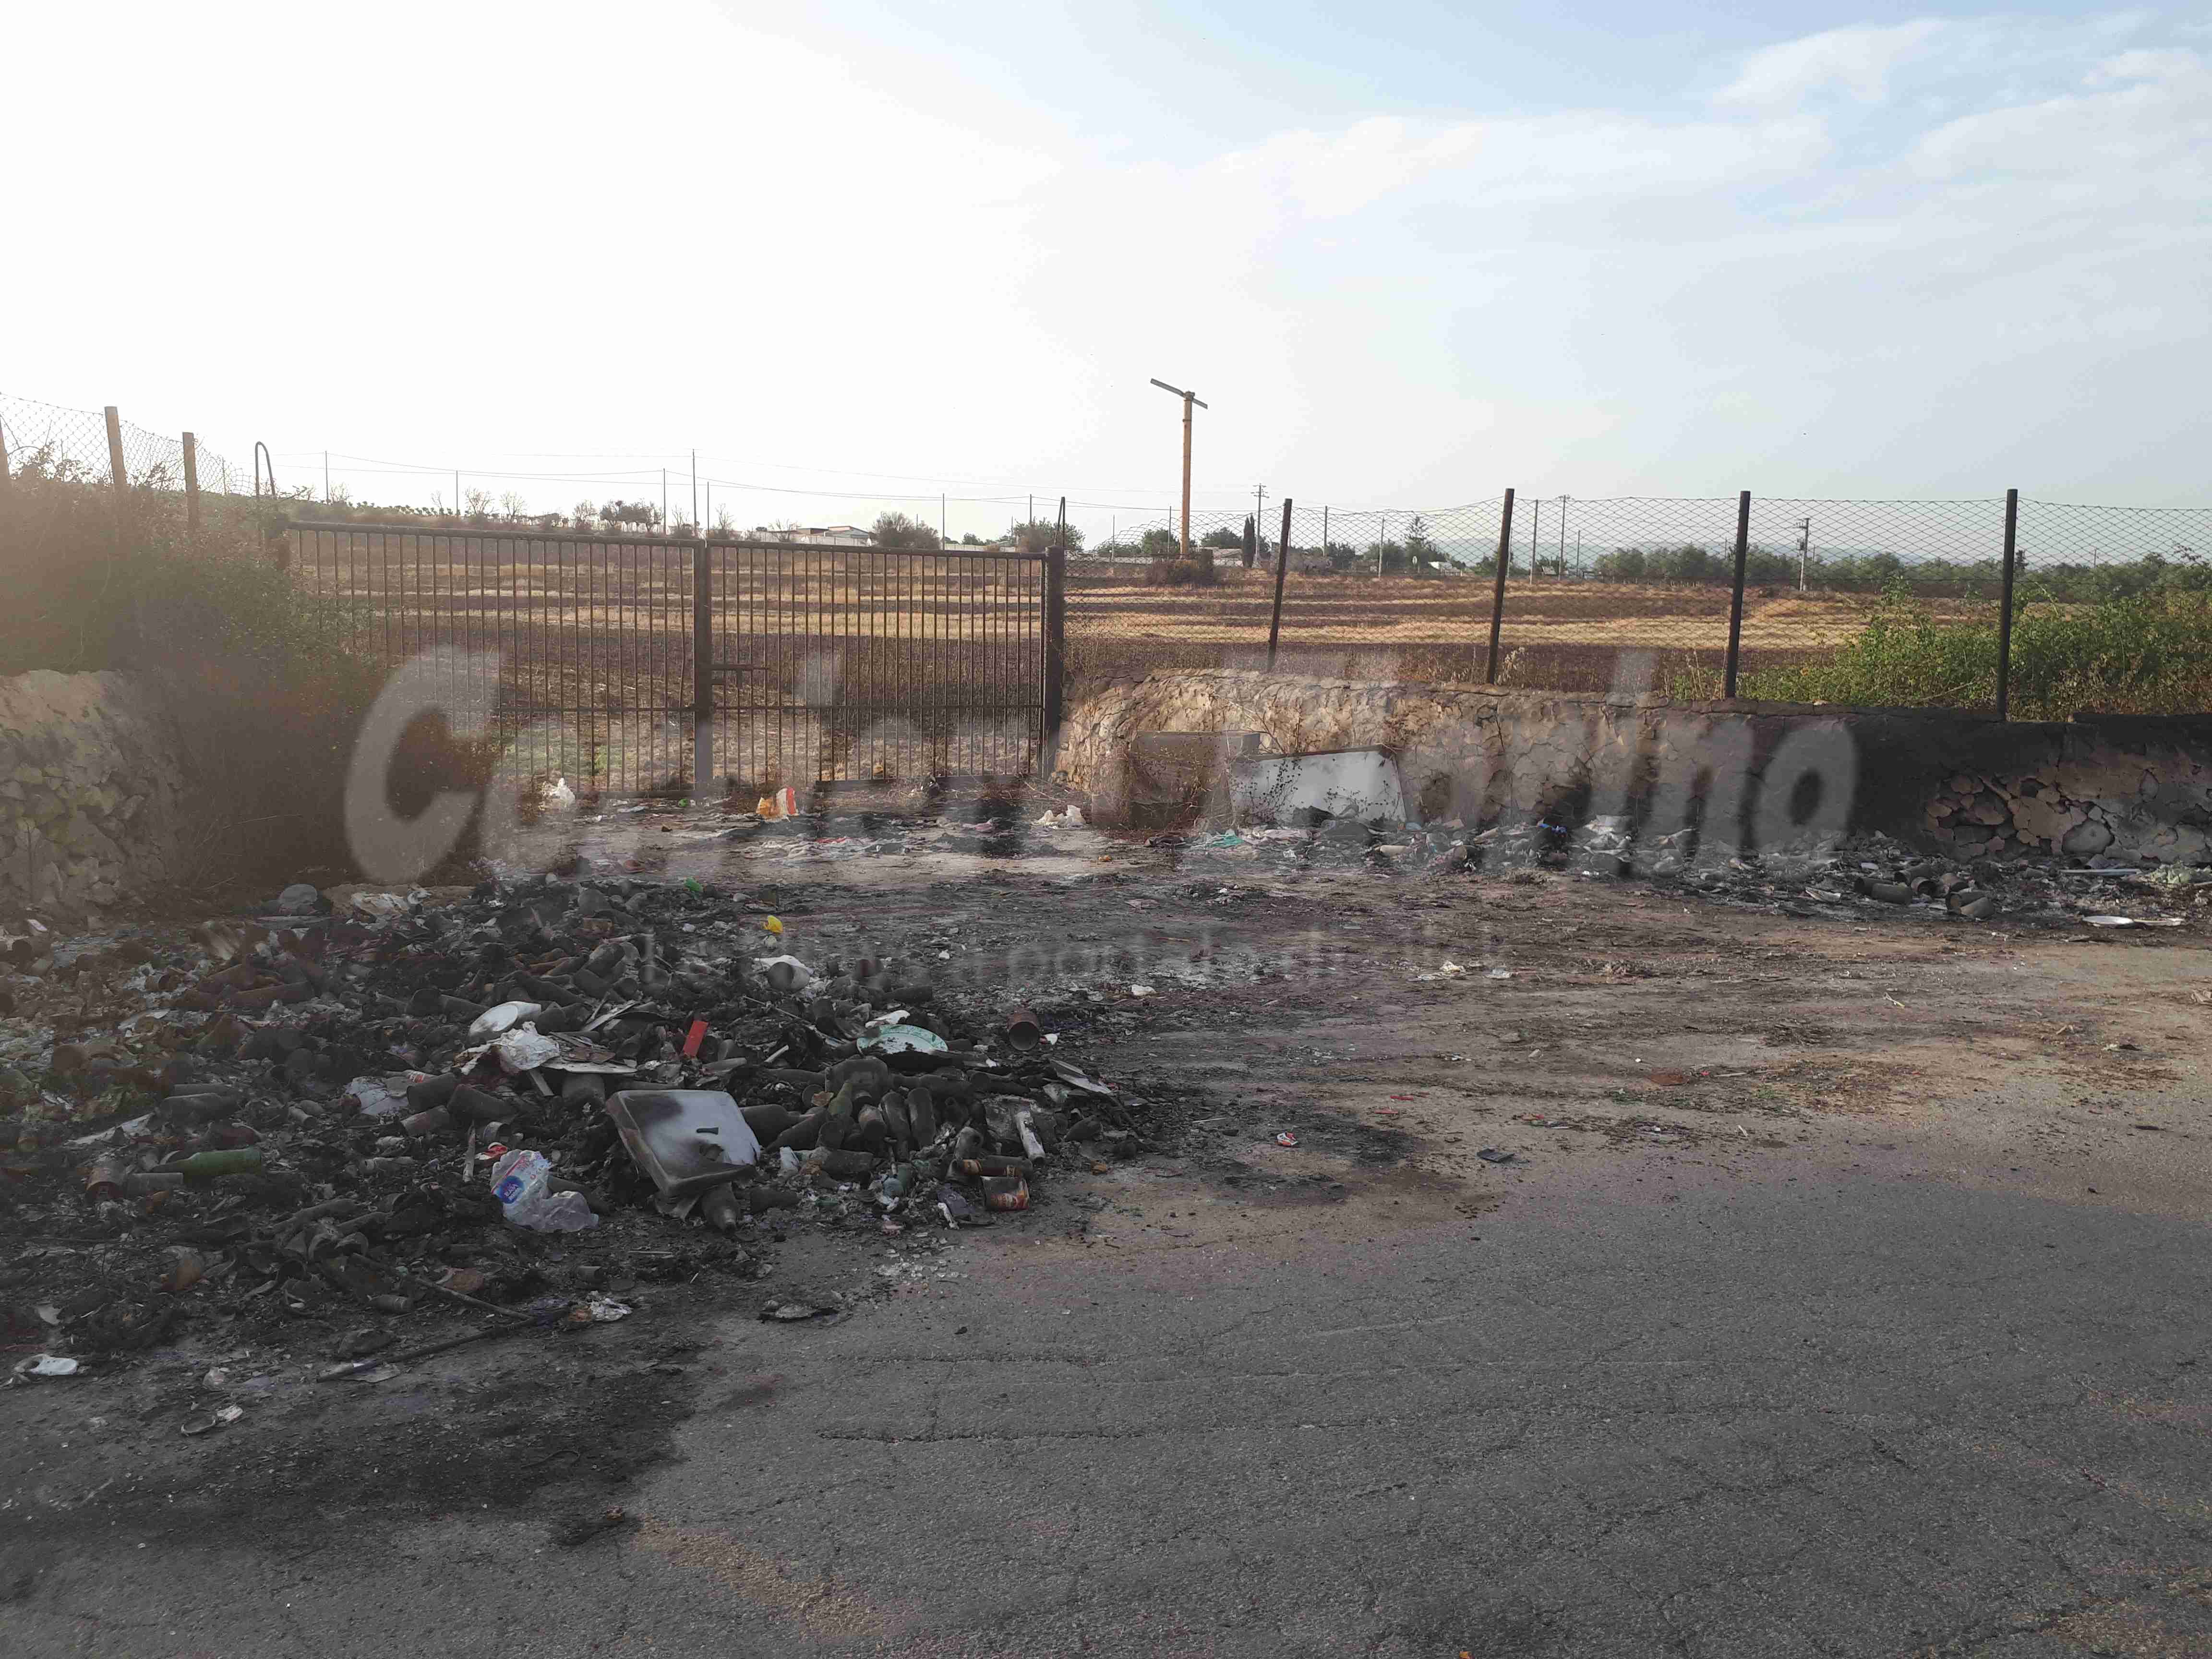
[[[1805,821],[1814,801],[1761,818],[1776,757],[1845,757],[1832,787],[1843,830],[1958,856],[2075,854],[2212,863],[2212,719],[2079,717],[2000,723],[1955,710],[1805,703],[1672,703],[1296,679],[1243,670],[1152,675],[1071,712],[1060,779],[1097,823],[1128,823],[1148,794],[1133,739],[1261,734],[1281,754],[1383,748],[1422,818],[1491,823],[1551,810],[1679,812],[1736,772],[1741,827]],[[1192,739],[1197,741],[1197,739]],[[1252,739],[1239,737],[1245,748]],[[1188,783],[1183,785],[1188,792]],[[1152,790],[1157,792],[1157,790]]]

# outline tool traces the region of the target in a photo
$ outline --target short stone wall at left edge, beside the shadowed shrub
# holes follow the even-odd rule
[[[0,679],[0,911],[115,905],[170,874],[184,779],[124,675]]]

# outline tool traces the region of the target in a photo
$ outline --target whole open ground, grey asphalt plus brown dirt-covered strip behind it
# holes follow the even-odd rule
[[[323,1407],[526,1442],[622,1363],[619,1400],[562,1431],[639,1436],[613,1484],[538,1449],[511,1486],[489,1458],[436,1502],[369,1502],[345,1467],[257,1478],[232,1431],[192,1442],[228,1460],[221,1506],[111,1504],[66,1495],[62,1442],[113,1451],[124,1420],[15,1391],[40,1462],[0,1509],[0,1646],[2212,1652],[2194,936],[1471,891],[1511,982],[1110,1004],[1135,1011],[1102,1071],[1201,1086],[1221,1119],[843,1323],[648,1307],[491,1427],[469,1400],[546,1360],[462,1352]],[[1265,945],[1349,894],[1208,927]],[[896,925],[880,896],[810,922],[845,914]],[[1431,920],[1358,927],[1387,956]],[[838,1267],[794,1239],[785,1270]],[[604,1504],[619,1524],[564,1542]]]

